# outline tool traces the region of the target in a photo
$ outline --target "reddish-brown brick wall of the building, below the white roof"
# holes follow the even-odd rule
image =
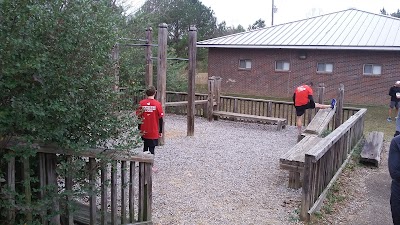
[[[305,52],[306,59],[299,59]],[[400,80],[400,53],[395,51],[287,50],[210,48],[208,75],[222,77],[223,93],[287,97],[294,88],[313,81],[326,87],[325,99],[337,96],[339,84],[345,88],[345,104],[388,105],[388,91]],[[239,59],[251,59],[250,70],[239,69]],[[275,61],[290,62],[288,72],[275,71]],[[316,72],[317,62],[333,63],[333,73]],[[363,75],[365,63],[380,64],[380,76]]]

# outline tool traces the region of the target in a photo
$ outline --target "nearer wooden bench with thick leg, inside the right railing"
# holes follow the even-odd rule
[[[301,187],[301,174],[304,169],[305,153],[320,140],[322,138],[317,135],[305,135],[300,142],[279,159],[280,168],[289,170],[289,188],[297,189]]]

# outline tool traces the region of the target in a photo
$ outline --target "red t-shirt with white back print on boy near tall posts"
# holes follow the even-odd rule
[[[155,99],[143,99],[139,103],[136,115],[142,119],[142,124],[140,125],[142,136],[146,139],[158,139],[158,122],[164,116],[161,103]]]

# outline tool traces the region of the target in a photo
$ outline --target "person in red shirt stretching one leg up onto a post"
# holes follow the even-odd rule
[[[293,94],[294,107],[296,108],[296,125],[299,131],[299,136],[301,135],[301,128],[303,125],[302,116],[306,112],[306,109],[333,109],[336,105],[336,99],[332,99],[330,105],[315,103],[313,99],[313,90],[311,88],[312,86],[312,82],[300,85],[295,89]]]

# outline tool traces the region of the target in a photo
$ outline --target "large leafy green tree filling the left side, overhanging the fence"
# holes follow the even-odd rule
[[[137,146],[137,123],[116,114],[122,99],[113,91],[110,53],[123,21],[107,0],[0,1],[0,138],[27,143],[0,149],[0,178],[10,155],[35,155],[34,142],[77,151]]]

